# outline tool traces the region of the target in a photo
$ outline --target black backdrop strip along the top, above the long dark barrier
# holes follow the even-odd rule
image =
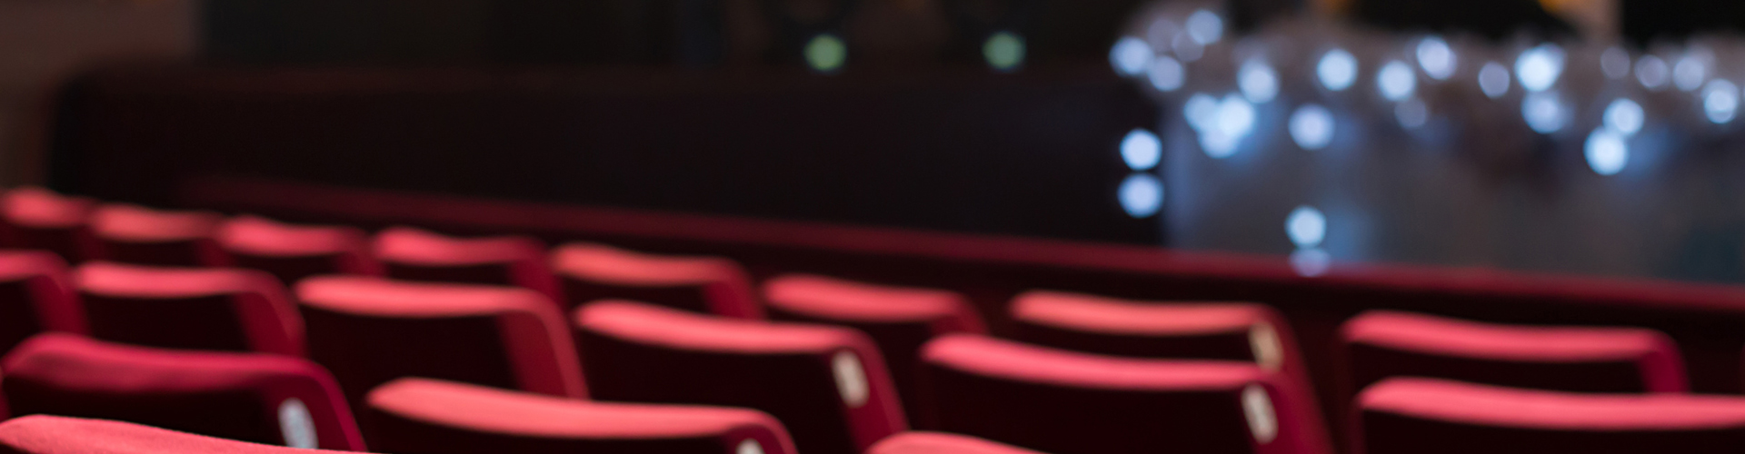
[[[834,3],[829,19],[789,3]],[[1251,0],[1291,2],[1291,0]],[[811,33],[895,65],[979,59],[989,26],[1033,59],[1098,59],[1141,0],[206,0],[206,56],[246,65],[796,63]],[[991,7],[965,7],[991,5]],[[968,14],[965,14],[968,12]],[[984,14],[979,14],[984,12]],[[913,37],[916,30],[949,28]],[[787,33],[804,30],[806,33]],[[927,33],[921,33],[927,35]],[[972,49],[972,52],[953,52]],[[792,51],[792,52],[777,52]],[[855,58],[855,65],[862,59]]]

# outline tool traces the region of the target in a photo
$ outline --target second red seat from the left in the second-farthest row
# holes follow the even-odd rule
[[[89,262],[73,269],[91,335],[113,342],[304,354],[284,286],[253,269]]]

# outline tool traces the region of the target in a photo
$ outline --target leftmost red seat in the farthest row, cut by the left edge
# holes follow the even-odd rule
[[[21,187],[0,199],[0,241],[12,248],[47,250],[66,260],[84,260],[91,248],[91,211],[98,203],[87,197],[54,194],[40,187]]]

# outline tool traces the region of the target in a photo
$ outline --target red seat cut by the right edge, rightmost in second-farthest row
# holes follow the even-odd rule
[[[1740,452],[1745,398],[1396,377],[1358,396],[1356,454]]]

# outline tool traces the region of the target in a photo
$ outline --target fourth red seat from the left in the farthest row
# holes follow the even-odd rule
[[[544,243],[530,236],[452,237],[389,227],[375,234],[372,250],[394,279],[513,285],[564,300]]]

